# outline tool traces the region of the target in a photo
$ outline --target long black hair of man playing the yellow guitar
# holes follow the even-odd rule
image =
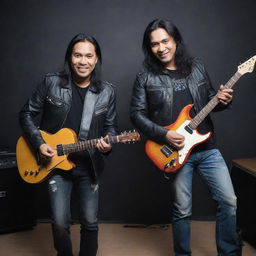
[[[71,55],[72,55],[72,51],[73,51],[75,44],[77,44],[79,42],[90,42],[94,45],[95,52],[98,57],[98,61],[95,65],[95,68],[94,68],[92,74],[91,74],[91,82],[98,84],[98,83],[100,83],[102,56],[101,56],[100,46],[99,46],[97,40],[93,36],[80,33],[80,34],[75,35],[72,38],[72,40],[68,44],[66,54],[65,54],[64,72],[66,75],[71,77],[71,74],[72,74]]]

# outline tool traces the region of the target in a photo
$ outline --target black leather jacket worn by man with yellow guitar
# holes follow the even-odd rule
[[[71,86],[71,81],[66,75],[49,73],[22,108],[20,124],[36,152],[45,142],[36,126],[35,117],[42,115],[41,130],[56,133],[63,128],[71,107]],[[113,87],[107,82],[102,82],[100,87],[90,85],[85,98],[79,140],[99,138],[106,134],[116,135],[116,133],[116,103]],[[94,167],[94,178],[97,179],[103,170],[103,157],[97,149],[88,151]]]

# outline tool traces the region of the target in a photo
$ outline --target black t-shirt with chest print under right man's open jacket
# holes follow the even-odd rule
[[[183,107],[188,104],[193,104],[193,98],[191,96],[188,84],[184,76],[179,74],[177,70],[168,70],[169,76],[173,79],[173,109],[172,109],[172,122],[175,122],[178,115]],[[190,110],[190,116],[193,118],[196,116],[195,109]],[[210,126],[204,120],[197,128],[198,132],[201,134],[208,133],[210,131]],[[193,149],[193,152],[202,151],[207,149],[215,148],[215,137],[214,135],[210,137],[206,142],[199,144]]]

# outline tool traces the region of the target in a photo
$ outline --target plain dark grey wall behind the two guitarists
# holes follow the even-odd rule
[[[0,146],[15,151],[21,135],[18,112],[46,72],[61,69],[70,39],[93,34],[103,52],[103,78],[116,85],[120,131],[132,129],[129,101],[141,66],[142,34],[156,17],[180,28],[192,55],[204,60],[213,85],[227,80],[239,62],[256,54],[255,0],[2,0],[0,11]],[[241,78],[233,107],[213,114],[218,146],[231,159],[253,157],[256,72]],[[102,221],[170,222],[170,182],[146,158],[144,141],[116,145],[101,179]],[[38,219],[47,219],[46,184],[35,186]],[[194,179],[193,216],[214,216],[214,203]]]

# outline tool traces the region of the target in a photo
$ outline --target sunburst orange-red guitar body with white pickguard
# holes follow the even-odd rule
[[[185,106],[177,120],[166,126],[168,130],[174,130],[185,137],[185,146],[177,150],[173,146],[158,144],[152,140],[148,140],[145,145],[145,151],[147,156],[153,161],[153,163],[164,172],[176,172],[187,161],[191,150],[198,144],[203,143],[210,138],[211,132],[206,134],[200,134],[197,130],[192,130],[187,127],[192,118],[189,113],[192,104]]]

